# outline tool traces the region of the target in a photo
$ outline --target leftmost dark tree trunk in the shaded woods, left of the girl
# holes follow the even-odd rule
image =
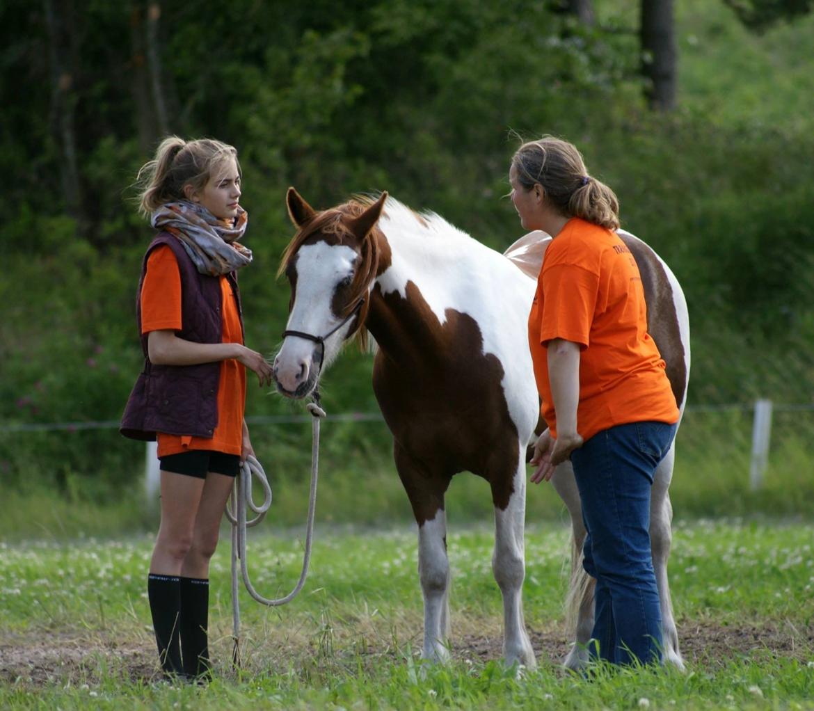
[[[70,5],[70,3],[68,3]],[[75,120],[76,94],[73,87],[76,76],[73,68],[70,40],[72,7],[63,3],[55,7],[53,0],[43,0],[48,33],[48,59],[51,75],[51,126],[59,145],[61,159],[59,172],[65,198],[65,209],[80,226],[85,228],[82,214],[81,180],[77,159],[77,132]],[[62,14],[58,14],[62,11]]]

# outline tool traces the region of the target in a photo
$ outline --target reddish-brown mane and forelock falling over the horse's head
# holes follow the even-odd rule
[[[277,270],[277,276],[280,277],[287,269],[297,251],[303,246],[303,243],[315,233],[323,233],[333,235],[337,244],[347,244],[353,242],[354,245],[357,241],[357,236],[348,229],[344,224],[344,219],[348,217],[358,217],[362,212],[370,207],[375,202],[375,199],[370,195],[354,195],[347,203],[331,207],[322,212],[316,212],[314,216],[300,225],[297,229],[291,242],[288,243],[286,248],[282,251],[280,259],[280,266]],[[356,339],[359,346],[363,351],[367,349],[368,332],[365,327],[365,319],[367,312],[370,308],[370,299],[367,298],[367,287],[370,281],[373,281],[376,272],[379,269],[379,238],[383,237],[378,227],[370,230],[365,235],[365,239],[361,242],[361,264],[357,268],[356,276],[349,287],[350,296],[348,303],[345,304],[344,310],[339,316],[345,318],[352,312],[353,308],[363,297],[365,303],[362,304],[357,317],[357,331]],[[291,296],[293,299],[293,294]],[[291,308],[291,304],[289,304]]]

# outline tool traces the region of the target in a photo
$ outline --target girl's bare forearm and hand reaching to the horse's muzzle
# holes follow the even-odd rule
[[[178,338],[175,331],[147,334],[147,355],[156,365],[199,365],[234,358],[256,373],[260,385],[271,385],[271,365],[242,343],[196,343]]]

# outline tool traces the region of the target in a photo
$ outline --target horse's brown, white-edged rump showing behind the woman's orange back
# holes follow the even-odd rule
[[[619,238],[628,246],[639,268],[647,302],[647,331],[667,365],[667,379],[681,407],[687,387],[687,364],[670,281],[650,246],[623,233],[619,233]]]

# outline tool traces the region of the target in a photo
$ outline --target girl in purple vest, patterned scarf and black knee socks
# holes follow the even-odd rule
[[[144,369],[121,422],[126,437],[158,439],[161,523],[147,594],[166,674],[208,675],[209,559],[240,464],[253,454],[246,371],[260,386],[271,368],[243,345],[237,270],[240,167],[232,146],[168,137],[138,173],[140,210],[158,230],[138,282]]]

